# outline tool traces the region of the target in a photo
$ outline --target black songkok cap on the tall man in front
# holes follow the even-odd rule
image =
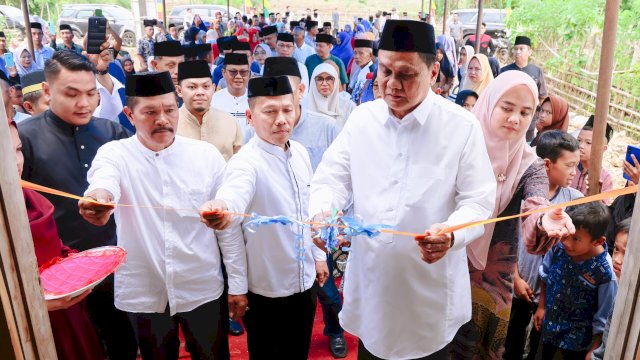
[[[435,31],[431,24],[422,21],[387,20],[379,49],[435,55]]]

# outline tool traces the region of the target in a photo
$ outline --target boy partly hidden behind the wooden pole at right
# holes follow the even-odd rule
[[[580,164],[578,164],[578,174],[571,182],[571,187],[580,190],[584,195],[587,195],[587,192],[589,191],[589,160],[591,159],[593,121],[594,117],[591,115],[578,134],[578,142],[580,142]],[[607,144],[611,141],[612,136],[613,128],[611,125],[607,124],[607,130],[605,132]],[[603,151],[607,151],[607,144],[605,144]],[[613,179],[611,174],[609,174],[605,168],[602,168],[600,171],[600,183],[602,184],[600,189],[601,192],[613,190]]]

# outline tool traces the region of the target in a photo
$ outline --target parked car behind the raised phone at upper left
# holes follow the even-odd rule
[[[128,9],[106,4],[68,4],[62,7],[58,16],[58,25],[69,24],[76,38],[87,32],[88,19],[96,9],[109,20],[109,26],[122,38],[122,46],[136,46],[136,22]]]

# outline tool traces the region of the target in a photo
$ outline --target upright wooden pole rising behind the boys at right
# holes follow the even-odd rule
[[[611,98],[613,56],[616,50],[620,0],[607,0],[606,4],[602,50],[600,52],[600,72],[598,74],[598,89],[596,92],[596,111],[593,124],[593,144],[591,145],[591,158],[589,159],[589,195],[600,193],[600,171],[602,169],[602,154],[606,145],[605,132]]]

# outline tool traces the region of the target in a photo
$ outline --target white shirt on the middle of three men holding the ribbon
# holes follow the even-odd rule
[[[216,195],[229,211],[264,216],[308,218],[311,164],[305,148],[289,142],[287,151],[254,136],[227,165]],[[311,242],[308,226],[262,225],[251,232],[242,226],[248,218],[234,218],[220,239],[238,239],[246,244],[249,291],[276,298],[308,290],[316,277],[315,261],[326,255]],[[304,251],[297,253],[302,235]]]

